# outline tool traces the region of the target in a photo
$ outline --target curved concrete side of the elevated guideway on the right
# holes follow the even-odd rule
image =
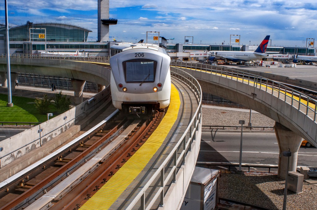
[[[184,71],[198,80],[203,92],[226,98],[264,114],[317,146],[317,123],[294,106],[252,85],[210,73]]]

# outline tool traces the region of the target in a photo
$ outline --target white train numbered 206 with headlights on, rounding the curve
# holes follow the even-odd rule
[[[118,47],[118,50],[114,50]],[[171,96],[171,58],[153,44],[111,46],[111,95],[115,108],[130,114],[154,115]]]

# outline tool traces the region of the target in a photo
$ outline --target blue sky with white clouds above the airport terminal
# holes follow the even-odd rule
[[[169,42],[230,42],[230,34],[241,35],[241,44],[260,44],[271,35],[272,46],[305,46],[317,32],[315,0],[110,0],[109,14],[118,24],[109,36],[120,41],[146,39],[146,31],[159,31]],[[9,23],[62,22],[92,30],[88,40],[97,39],[97,0],[8,0]],[[4,23],[4,1],[0,3]],[[317,37],[316,37],[317,39]]]

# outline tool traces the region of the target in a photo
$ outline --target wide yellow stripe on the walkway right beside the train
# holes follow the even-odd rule
[[[172,84],[170,106],[159,126],[139,150],[80,208],[81,210],[107,210],[111,207],[162,145],[177,120],[179,106],[179,93]]]

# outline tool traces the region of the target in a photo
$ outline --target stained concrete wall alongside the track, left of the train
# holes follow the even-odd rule
[[[40,125],[32,127],[1,141],[0,147],[3,147],[3,151],[0,153],[0,168],[10,164],[18,158],[23,157],[30,151],[45,145],[53,138],[57,137],[79,121],[86,118],[88,114],[92,113],[95,109],[103,105],[107,99],[106,96],[109,93],[110,87],[108,86],[106,89],[94,96],[96,99],[94,102],[87,104],[85,101],[78,106],[71,108],[65,113],[41,123]],[[67,118],[64,119],[65,117]],[[40,131],[40,129],[42,129],[42,131]],[[67,138],[65,138],[65,141],[66,140]],[[63,142],[60,143],[62,144]],[[38,157],[32,158],[33,162],[44,157],[47,152],[50,151],[46,151],[45,154],[37,154]]]

